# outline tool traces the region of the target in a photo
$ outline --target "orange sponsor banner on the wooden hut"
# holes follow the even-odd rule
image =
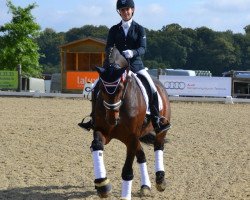
[[[85,83],[93,83],[99,78],[99,74],[97,72],[67,72],[66,76],[66,89],[71,90],[82,90]]]

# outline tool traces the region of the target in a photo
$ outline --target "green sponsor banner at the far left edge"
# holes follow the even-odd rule
[[[17,71],[0,71],[0,89],[17,89],[18,72]]]

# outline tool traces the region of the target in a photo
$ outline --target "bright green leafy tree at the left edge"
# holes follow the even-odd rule
[[[7,0],[6,5],[12,20],[0,27],[0,69],[14,70],[21,64],[24,74],[39,77],[42,69],[39,67],[39,47],[35,39],[39,36],[40,26],[31,14],[37,5],[21,8],[11,0]]]

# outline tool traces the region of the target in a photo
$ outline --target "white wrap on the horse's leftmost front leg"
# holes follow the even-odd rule
[[[92,158],[94,162],[95,179],[106,178],[106,169],[103,162],[103,151],[93,151]]]

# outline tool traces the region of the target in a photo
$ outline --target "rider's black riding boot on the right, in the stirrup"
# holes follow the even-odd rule
[[[157,92],[153,93],[152,104],[150,105],[150,112],[151,112],[151,122],[156,134],[169,129],[170,125],[163,123],[164,117],[161,117],[159,113]]]

